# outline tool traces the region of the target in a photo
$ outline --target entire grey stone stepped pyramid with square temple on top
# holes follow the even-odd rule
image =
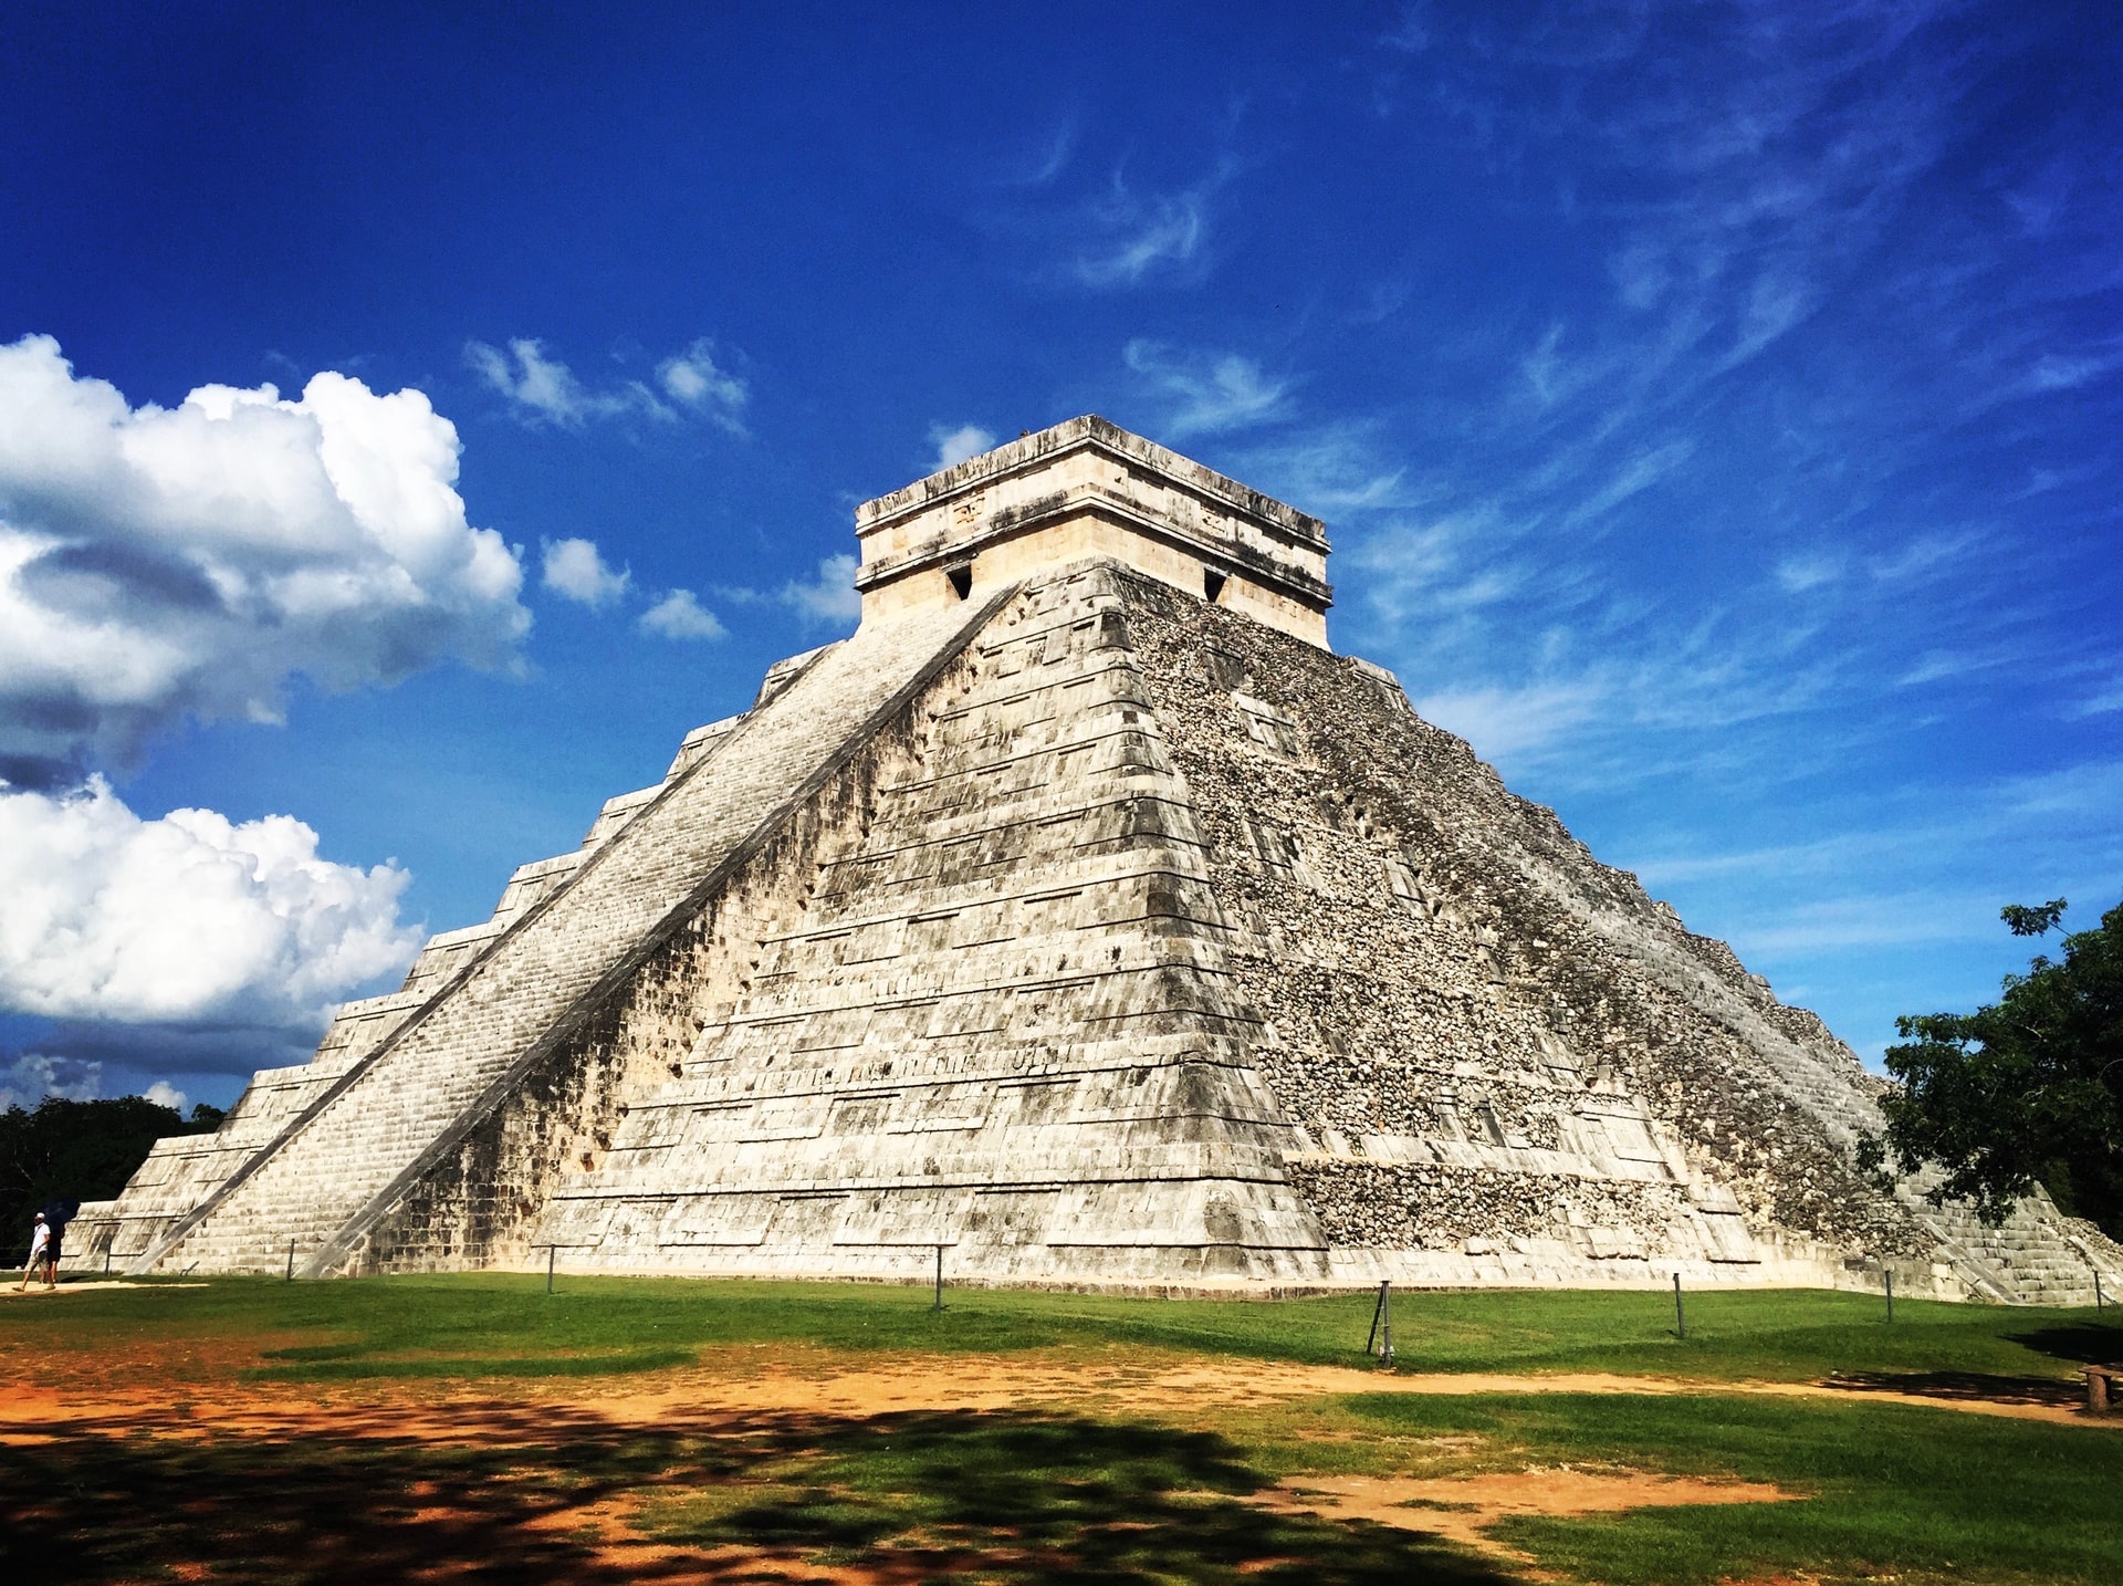
[[[856,533],[853,637],[157,1144],[72,1261],[2123,1287],[2047,1200],[1870,1187],[1817,1017],[1327,648],[1314,518],[1076,418]]]

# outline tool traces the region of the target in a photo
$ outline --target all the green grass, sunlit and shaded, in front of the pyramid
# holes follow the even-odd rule
[[[1248,1359],[1365,1367],[1371,1299],[1155,1301],[921,1289],[543,1276],[146,1285],[0,1308],[0,1357],[59,1367],[153,1359],[172,1397],[244,1382],[397,1393],[454,1380],[507,1403],[524,1378],[654,1382],[694,1361],[800,1369],[907,1357],[1034,1363]],[[1155,1412],[760,1412],[726,1429],[535,1401],[512,1446],[361,1437],[140,1437],[81,1427],[0,1450],[40,1493],[0,1567],[70,1537],[79,1580],[210,1558],[229,1580],[359,1580],[450,1563],[469,1580],[603,1580],[588,1541],[531,1516],[626,1495],[639,1529],[686,1548],[849,1565],[896,1580],[1516,1580],[1420,1531],[1280,1514],[1280,1478],[1580,1469],[1773,1482],[1788,1503],[1518,1518],[1492,1535],[1577,1582],[2123,1582],[2123,1429],[1722,1391],[1830,1376],[1877,1386],[2055,1397],[2076,1363],[2123,1357],[2106,1314],[1898,1304],[1815,1291],[1690,1295],[1688,1338],[1658,1293],[1401,1293],[1410,1372],[1618,1374],[1688,1393],[1359,1393]],[[136,1348],[138,1346],[138,1348]],[[1376,1367],[1367,1367],[1376,1369]],[[79,1380],[79,1378],[76,1378]],[[1380,1376],[1380,1384],[1388,1382]],[[486,1386],[480,1386],[486,1384]],[[512,1412],[514,1414],[514,1412]],[[516,1427],[518,1420],[510,1425]],[[389,1431],[389,1416],[380,1425]],[[414,1514],[422,1518],[410,1527]],[[425,1550],[425,1552],[422,1552]],[[501,1561],[514,1561],[503,1567]],[[529,1561],[529,1563],[527,1563]],[[533,1567],[535,1563],[535,1567]],[[514,1573],[512,1573],[514,1571]],[[13,1573],[13,1571],[11,1571]],[[32,1565],[34,1573],[34,1565]],[[773,1573],[771,1569],[766,1571]],[[764,1578],[764,1575],[762,1575]]]

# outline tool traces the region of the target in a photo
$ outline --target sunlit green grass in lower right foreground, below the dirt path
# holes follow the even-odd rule
[[[2123,1437],[2102,1427],[1728,1395],[1376,1395],[1348,1408],[1391,1437],[1478,1435],[1439,1461],[1461,1469],[1624,1467],[1809,1495],[1492,1529],[1580,1580],[2123,1580]]]

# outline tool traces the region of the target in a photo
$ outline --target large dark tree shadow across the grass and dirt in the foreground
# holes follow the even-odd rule
[[[83,1416],[0,1446],[0,1480],[4,1580],[1512,1580],[1420,1533],[1263,1510],[1267,1478],[1216,1435],[1017,1412]]]

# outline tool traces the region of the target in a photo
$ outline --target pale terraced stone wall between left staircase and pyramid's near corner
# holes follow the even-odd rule
[[[1110,571],[1023,590],[730,887],[571,1268],[1325,1274]],[[707,926],[703,926],[703,938]]]

